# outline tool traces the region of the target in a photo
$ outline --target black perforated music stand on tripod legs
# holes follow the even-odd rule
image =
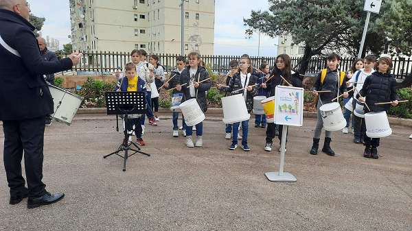
[[[124,117],[124,123],[126,124],[126,127],[128,123],[130,123],[128,119],[129,114],[146,113],[146,96],[145,96],[145,93],[142,91],[110,91],[110,92],[106,92],[105,96],[106,96],[107,114],[122,114]],[[103,156],[103,158],[106,158],[113,154],[120,156],[119,152],[124,151],[124,156],[120,156],[124,158],[123,171],[126,171],[127,158],[129,158],[130,156],[133,156],[137,152],[150,156],[150,154],[147,154],[143,151],[139,151],[140,147],[137,146],[135,143],[131,141],[129,143],[128,136],[129,136],[128,131],[125,128],[123,143],[119,146],[117,151],[113,151],[111,154]],[[137,147],[137,150],[130,148],[131,145],[134,145],[135,147]],[[133,154],[128,154],[129,150],[134,151]]]

